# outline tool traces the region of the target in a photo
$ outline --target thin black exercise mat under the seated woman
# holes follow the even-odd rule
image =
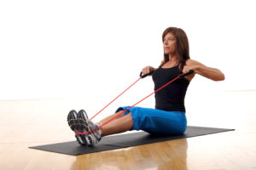
[[[67,154],[71,156],[78,156],[82,154],[89,154],[98,151],[116,150],[125,147],[131,147],[141,144],[152,144],[163,142],[172,139],[185,139],[195,136],[201,136],[212,133],[223,133],[235,129],[214,128],[214,127],[191,127],[188,126],[183,135],[176,136],[157,136],[146,132],[125,133],[102,138],[101,142],[95,147],[81,146],[77,141],[64,142],[58,144],[46,144],[40,146],[29,147],[37,150],[47,150],[51,152]]]

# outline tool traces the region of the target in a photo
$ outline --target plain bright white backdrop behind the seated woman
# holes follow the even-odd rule
[[[0,1],[0,99],[114,97],[160,64],[169,26],[226,77],[197,76],[191,93],[255,89],[255,16],[253,1]],[[152,92],[139,83],[134,93]]]

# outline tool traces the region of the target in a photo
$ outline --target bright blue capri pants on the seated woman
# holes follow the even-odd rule
[[[116,112],[125,111],[129,107],[119,107]],[[131,113],[133,120],[133,127],[130,130],[143,130],[158,134],[182,134],[187,129],[187,118],[183,111],[162,111],[132,107],[125,111],[125,115],[129,113]]]

